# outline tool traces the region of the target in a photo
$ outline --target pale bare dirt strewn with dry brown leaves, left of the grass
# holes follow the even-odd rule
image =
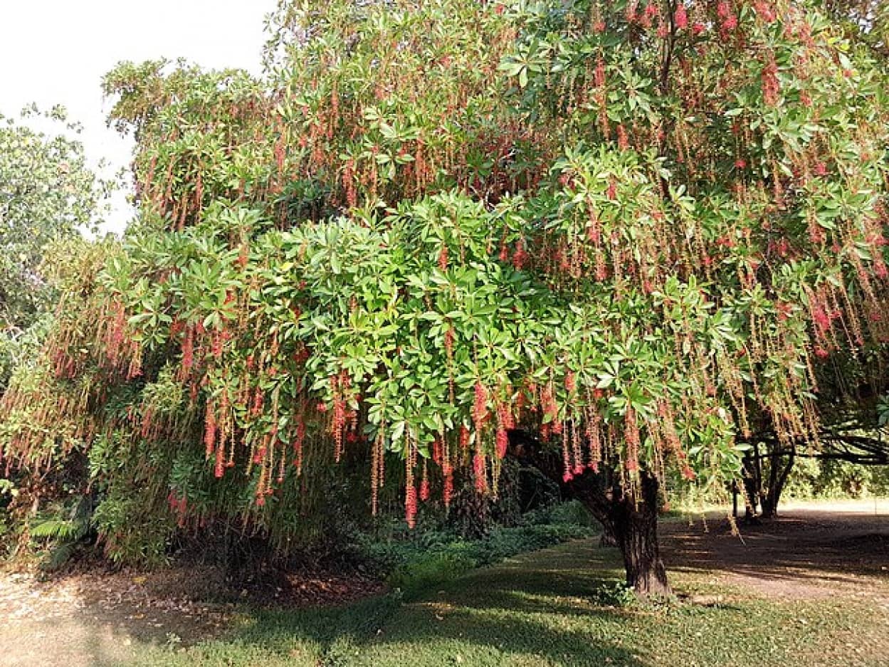
[[[241,585],[246,588],[239,593]],[[139,644],[183,647],[211,639],[235,622],[236,603],[207,599],[307,607],[381,589],[369,577],[319,572],[239,583],[235,589],[209,568],[43,581],[34,574],[0,572],[0,667],[104,667],[125,663]]]

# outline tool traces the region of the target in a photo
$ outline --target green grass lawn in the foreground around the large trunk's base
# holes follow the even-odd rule
[[[680,591],[719,593],[725,602],[603,606],[601,591],[613,590],[620,575],[614,550],[597,549],[591,540],[570,542],[473,570],[411,602],[389,595],[332,609],[244,612],[224,639],[184,650],[140,647],[138,658],[126,664],[889,664],[885,610],[867,599],[757,599],[721,588],[709,575],[679,573],[673,583]]]

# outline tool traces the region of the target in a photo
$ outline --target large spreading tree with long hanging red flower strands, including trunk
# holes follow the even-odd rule
[[[885,78],[826,17],[284,2],[262,79],[119,66],[140,221],[4,397],[5,456],[86,451],[113,549],[159,517],[286,543],[343,459],[369,510],[397,461],[412,524],[514,455],[668,591],[668,472],[817,446],[819,382],[880,371]]]

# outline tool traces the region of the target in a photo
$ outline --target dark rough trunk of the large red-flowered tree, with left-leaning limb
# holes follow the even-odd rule
[[[604,536],[613,535],[621,549],[627,584],[637,595],[669,595],[667,570],[658,542],[657,478],[642,473],[635,493],[621,488],[619,483],[607,485],[605,478],[592,470],[565,482],[558,452],[546,451],[536,438],[522,431],[510,433],[510,441],[511,454],[557,482],[566,497],[582,502],[597,518]]]

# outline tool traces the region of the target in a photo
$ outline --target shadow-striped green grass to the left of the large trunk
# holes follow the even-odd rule
[[[312,646],[324,665],[644,667],[603,631],[620,623],[621,611],[585,601],[608,575],[590,570],[588,544],[575,542],[569,555],[546,550],[482,568],[410,602],[393,594],[348,607],[259,612],[229,640],[278,655]]]

